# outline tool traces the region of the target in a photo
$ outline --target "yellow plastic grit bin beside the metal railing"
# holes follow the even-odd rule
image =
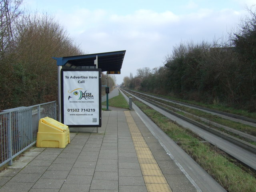
[[[36,147],[65,148],[70,143],[67,125],[52,118],[39,120]]]

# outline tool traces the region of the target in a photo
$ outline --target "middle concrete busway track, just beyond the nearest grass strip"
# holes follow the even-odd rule
[[[221,150],[223,150],[230,156],[232,156],[232,157],[236,158],[238,161],[244,163],[246,166],[252,168],[253,170],[256,170],[255,146],[252,146],[252,148],[251,148],[252,151],[248,150],[244,146],[242,147],[242,145],[238,146],[239,142],[237,140],[232,140],[232,137],[230,137],[230,136],[227,137],[227,134],[224,134],[224,133],[218,132],[218,131],[214,132],[214,134],[213,134],[212,132],[208,132],[208,130],[209,130],[208,128],[202,129],[198,125],[195,125],[194,123],[192,123],[192,122],[194,122],[193,120],[189,120],[189,119],[185,120],[185,118],[181,119],[180,117],[178,117],[180,115],[176,116],[176,114],[174,115],[174,113],[170,114],[170,112],[166,112],[166,110],[159,108],[159,107],[155,106],[154,104],[150,104],[149,102],[146,102],[146,101],[142,100],[141,98],[138,98],[137,96],[134,96],[134,97],[137,98],[138,100],[144,102],[145,104],[147,104],[154,110],[160,112],[167,118],[170,118],[171,120],[176,121],[181,126],[192,130],[198,136],[200,136],[204,140],[210,142],[211,144],[217,146],[218,148],[220,148]],[[207,127],[207,126],[205,126],[205,127]],[[213,130],[211,130],[211,131],[213,131]],[[227,138],[228,138],[228,140],[226,140]],[[234,138],[234,139],[236,139],[236,138]],[[232,140],[232,142],[230,140]]]

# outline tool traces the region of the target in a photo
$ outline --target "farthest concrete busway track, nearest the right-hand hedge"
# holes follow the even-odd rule
[[[246,125],[256,127],[256,120],[252,119],[252,118],[247,118],[247,117],[244,117],[244,116],[231,114],[231,113],[227,113],[227,112],[222,112],[222,111],[217,111],[217,110],[209,109],[209,108],[202,107],[202,106],[197,106],[197,105],[188,104],[188,103],[184,103],[184,102],[180,102],[180,101],[166,99],[166,98],[162,98],[162,97],[158,97],[158,96],[154,96],[154,95],[150,95],[150,94],[144,94],[144,93],[140,93],[140,92],[136,92],[136,91],[132,91],[132,90],[129,90],[129,91],[130,92],[135,92],[135,93],[138,93],[138,94],[143,94],[143,95],[146,95],[146,96],[150,96],[150,97],[153,97],[153,98],[161,99],[163,101],[172,102],[174,104],[189,107],[189,108],[192,108],[192,109],[201,110],[203,112],[207,112],[207,113],[210,113],[210,114],[213,114],[213,115],[216,115],[216,116],[220,116],[220,117],[225,118],[225,119],[229,119],[229,120],[232,120],[232,121],[235,121],[235,122],[240,122],[240,123],[243,123],[243,124],[246,124]]]

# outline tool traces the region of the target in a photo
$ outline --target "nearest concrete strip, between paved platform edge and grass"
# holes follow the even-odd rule
[[[120,90],[128,102],[128,97]],[[153,106],[152,106],[153,107]],[[132,108],[148,127],[150,132],[158,139],[166,153],[177,164],[184,175],[196,187],[198,192],[226,192],[204,169],[202,169],[184,150],[182,150],[170,137],[168,137],[148,116],[146,116],[134,103]],[[162,110],[163,113],[164,110]],[[188,123],[184,122],[188,125]]]

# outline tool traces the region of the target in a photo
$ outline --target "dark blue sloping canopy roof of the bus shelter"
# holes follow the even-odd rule
[[[95,66],[94,60],[96,60],[96,56],[98,56],[98,68],[101,68],[101,71],[120,71],[125,52],[126,50],[69,57],[53,57],[53,59],[57,60],[58,66],[86,68]]]

